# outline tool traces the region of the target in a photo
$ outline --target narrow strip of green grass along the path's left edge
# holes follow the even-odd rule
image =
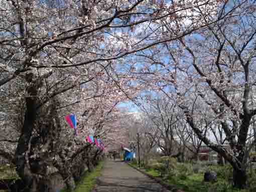
[[[100,175],[100,171],[103,165],[104,161],[101,161],[99,165],[93,169],[92,172],[87,172],[77,183],[77,187],[75,188],[74,192],[90,192],[96,182],[96,178]]]

